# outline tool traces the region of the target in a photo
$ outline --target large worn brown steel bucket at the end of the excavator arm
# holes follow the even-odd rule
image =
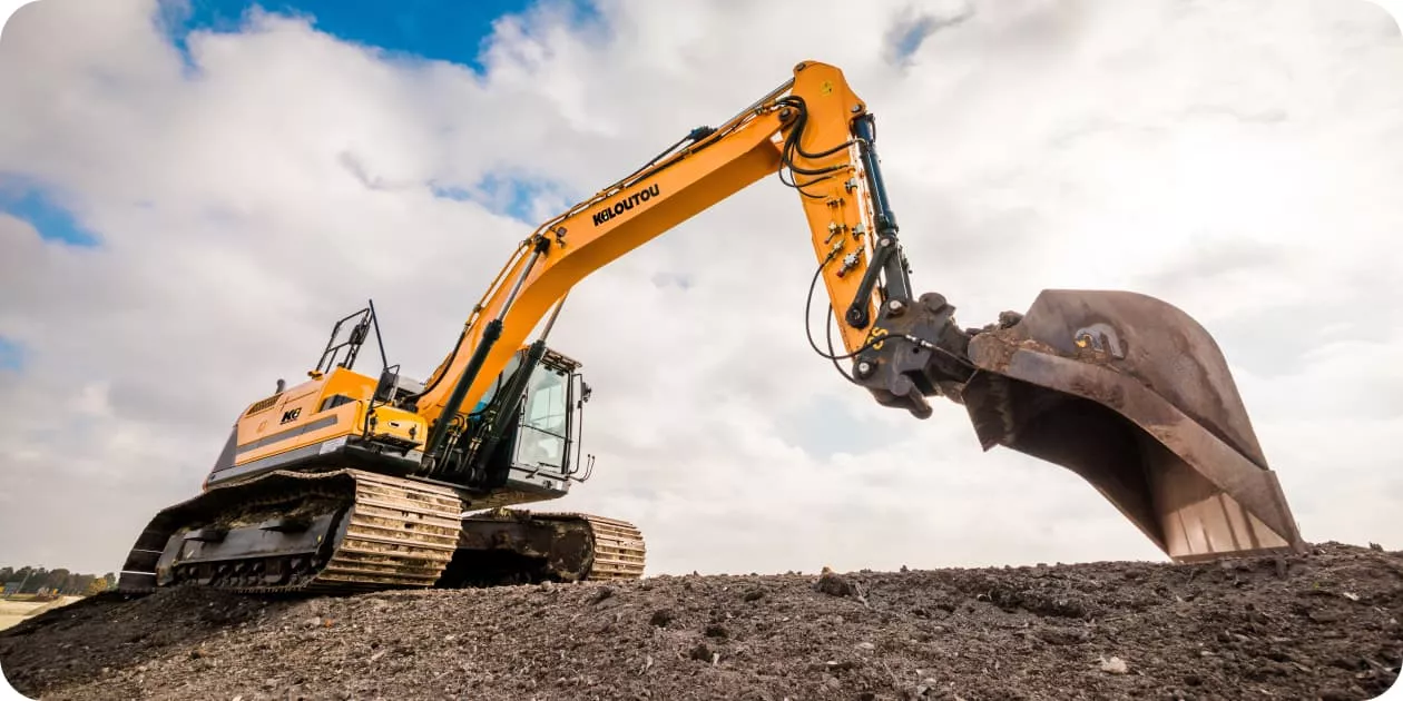
[[[1082,475],[1172,559],[1305,551],[1222,352],[1181,310],[1044,290],[968,355],[962,402],[984,449]]]

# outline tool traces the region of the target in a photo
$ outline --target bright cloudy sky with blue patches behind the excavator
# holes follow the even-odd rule
[[[1403,42],[1378,6],[389,7],[8,21],[0,561],[115,571],[366,299],[427,377],[536,223],[807,59],[877,116],[919,292],[967,327],[1047,287],[1172,301],[1302,536],[1403,547]],[[551,345],[595,388],[596,468],[551,509],[636,523],[650,573],[1164,559],[1080,478],[981,451],[962,408],[913,419],[815,356],[808,236],[770,177],[572,292]]]

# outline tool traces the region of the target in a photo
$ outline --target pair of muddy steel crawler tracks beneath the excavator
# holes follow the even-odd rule
[[[633,524],[586,513],[516,510],[470,519],[505,527],[535,524],[537,537],[546,533],[544,540],[513,543],[521,558],[511,561],[505,572],[474,572],[480,569],[480,561],[474,559],[478,552],[470,552],[474,544],[464,530],[463,510],[457,491],[417,479],[351,468],[271,472],[212,488],[161,510],[128,555],[118,586],[126,593],[202,586],[258,594],[345,594],[452,587],[470,580],[480,586],[542,576],[557,580],[643,576],[645,548]],[[281,540],[265,534],[290,522],[313,526],[303,526],[302,536],[292,529],[293,536]],[[554,527],[543,531],[543,524]],[[198,543],[188,545],[185,538],[192,531],[224,531],[231,543],[229,552],[217,551],[223,545],[208,551],[201,551]],[[240,544],[247,547],[233,544],[234,537],[241,537]],[[177,547],[180,558],[174,557]],[[501,554],[513,547],[492,550]],[[549,564],[532,559],[542,551],[551,555]],[[455,555],[462,555],[457,569],[443,578]]]

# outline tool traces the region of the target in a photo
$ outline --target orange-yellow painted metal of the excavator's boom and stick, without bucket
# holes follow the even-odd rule
[[[803,98],[808,116],[800,137],[807,153],[822,153],[845,144],[852,135],[850,122],[863,115],[863,104],[849,88],[843,73],[833,66],[805,62],[794,69],[787,91],[772,95],[756,109],[717,128],[717,133],[673,154],[641,175],[600,191],[589,200],[571,207],[564,215],[546,222],[523,241],[511,257],[497,280],[487,290],[467,321],[467,332],[453,353],[429,377],[429,390],[419,398],[419,412],[434,421],[443,409],[456,380],[467,367],[485,325],[497,318],[508,294],[525,269],[536,241],[550,241],[549,252],[530,269],[515,303],[504,318],[502,335],[488,353],[487,362],[474,379],[463,401],[473,407],[506,366],[512,353],[522,346],[540,318],[571,287],[585,276],[676,227],[697,213],[730,198],[766,175],[780,171],[783,137],[791,129],[781,121],[784,108],[779,101],[786,95]],[[833,315],[849,352],[861,346],[866,331],[852,328],[843,320],[853,300],[868,255],[859,257],[854,268],[842,278],[838,271],[847,252],[871,245],[873,215],[867,206],[866,182],[860,163],[852,147],[821,158],[796,154],[796,165],[815,170],[838,165],[842,170],[814,182],[814,177],[794,175],[808,198],[796,193],[808,220],[814,252],[818,261],[829,257],[833,245],[842,245],[824,269],[824,283],[833,301]],[[854,182],[852,192],[846,188]],[[648,192],[648,199],[643,193]],[[652,195],[655,192],[655,195]],[[609,219],[596,215],[609,209]],[[838,224],[842,240],[826,243],[829,223]],[[854,236],[861,231],[861,236]],[[875,293],[874,293],[875,294]],[[868,300],[868,314],[874,317],[875,300]],[[442,379],[441,379],[442,377]],[[439,380],[441,379],[441,380]],[[439,380],[439,381],[435,381]]]

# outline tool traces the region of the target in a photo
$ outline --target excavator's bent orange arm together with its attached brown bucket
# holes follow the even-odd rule
[[[427,472],[457,470],[464,407],[575,283],[776,172],[798,193],[812,285],[822,279],[846,352],[811,332],[810,345],[877,402],[918,418],[932,415],[927,397],[962,404],[985,450],[1075,471],[1174,559],[1303,548],[1226,362],[1184,313],[1134,293],[1045,290],[1027,314],[960,328],[941,294],[915,293],[873,116],[817,62],[522,241],[411,401],[431,425]],[[543,352],[544,336],[526,363]]]

